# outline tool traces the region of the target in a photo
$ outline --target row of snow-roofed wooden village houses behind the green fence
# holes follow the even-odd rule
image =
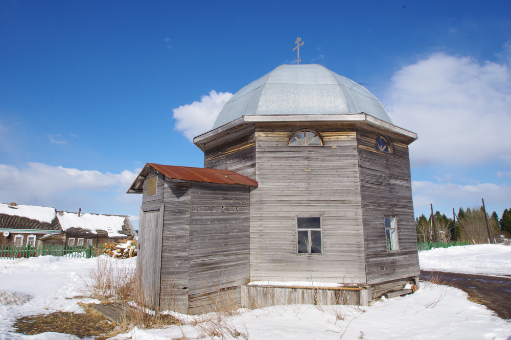
[[[0,245],[99,246],[135,234],[128,216],[0,203]]]

